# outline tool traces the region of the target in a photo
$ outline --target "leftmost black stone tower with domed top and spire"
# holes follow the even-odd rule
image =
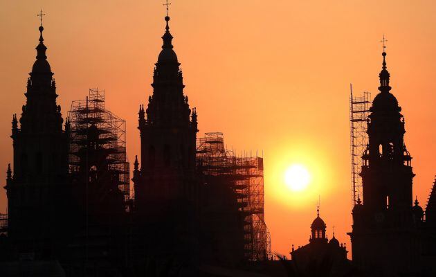
[[[12,119],[13,175],[9,168],[8,234],[18,253],[51,258],[60,240],[68,201],[68,132],[62,128],[56,85],[39,27],[37,57],[27,81],[19,123]]]

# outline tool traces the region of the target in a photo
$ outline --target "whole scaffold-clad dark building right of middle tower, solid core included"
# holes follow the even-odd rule
[[[237,157],[224,147],[222,133],[206,133],[197,139],[197,168],[205,184],[200,205],[201,233],[206,237],[202,256],[225,263],[270,259],[263,158]]]

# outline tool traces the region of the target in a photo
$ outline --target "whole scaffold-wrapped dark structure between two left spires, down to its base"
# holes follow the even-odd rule
[[[125,263],[131,208],[125,120],[105,109],[105,91],[90,89],[73,101],[69,126],[74,233],[61,262],[69,275],[116,272]]]

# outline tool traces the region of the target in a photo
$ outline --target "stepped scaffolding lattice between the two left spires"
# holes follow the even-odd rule
[[[91,125],[98,129],[101,148],[107,150],[108,170],[118,176],[118,188],[129,202],[129,162],[126,154],[126,123],[105,109],[105,91],[89,89],[86,100],[75,100],[69,111],[71,123],[69,167],[70,172],[80,170],[80,150],[88,143],[87,134]]]

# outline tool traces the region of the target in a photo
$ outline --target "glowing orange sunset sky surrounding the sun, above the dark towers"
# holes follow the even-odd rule
[[[340,242],[351,231],[349,83],[376,94],[381,39],[388,39],[392,93],[406,117],[414,193],[421,204],[436,174],[436,3],[433,1],[172,1],[170,27],[199,114],[199,135],[224,132],[237,152],[264,152],[266,223],[273,251],[306,244],[316,216]],[[0,1],[0,179],[12,159],[10,121],[21,112],[35,60],[39,8],[66,116],[89,88],[127,120],[127,150],[139,154],[138,105],[152,93],[161,48],[163,1]],[[306,192],[284,186],[284,168],[302,163]],[[6,211],[6,193],[0,193]]]

